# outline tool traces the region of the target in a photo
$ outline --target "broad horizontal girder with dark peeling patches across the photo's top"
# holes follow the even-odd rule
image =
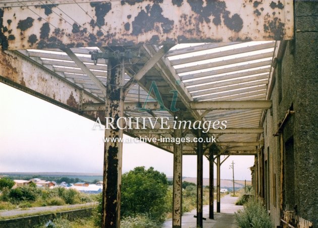
[[[0,18],[5,50],[282,40],[294,36],[293,3],[288,0],[51,0],[46,5],[8,0],[0,3]]]

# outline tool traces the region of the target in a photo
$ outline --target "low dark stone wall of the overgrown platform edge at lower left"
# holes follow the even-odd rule
[[[22,218],[13,218],[7,220],[0,220],[0,227],[6,228],[17,228],[17,227],[34,227],[40,223],[48,222],[49,220],[53,220],[57,217],[67,218],[72,221],[75,218],[83,218],[89,217],[92,215],[94,208],[85,208],[85,209],[77,209],[70,210],[64,212],[50,213],[50,214],[41,214],[41,215],[33,215]]]

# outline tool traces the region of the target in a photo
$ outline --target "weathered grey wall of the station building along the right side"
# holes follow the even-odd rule
[[[295,1],[295,40],[288,41],[276,68],[273,107],[264,122],[264,157],[269,148],[276,174],[276,203],[269,210],[275,226],[280,223],[280,140],[274,137],[279,120],[293,109],[283,126],[284,204],[318,227],[318,3]],[[270,195],[274,188],[270,177]]]

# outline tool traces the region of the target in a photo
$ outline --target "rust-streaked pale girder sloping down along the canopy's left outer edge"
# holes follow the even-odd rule
[[[0,82],[90,120],[96,121],[99,117],[103,121],[103,111],[80,111],[81,103],[102,102],[100,98],[27,58],[19,51],[0,51],[0,63]]]

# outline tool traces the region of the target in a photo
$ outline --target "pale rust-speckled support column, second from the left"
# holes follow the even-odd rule
[[[175,113],[175,120],[182,121],[180,112]],[[174,129],[174,137],[182,137],[182,128]],[[182,215],[182,143],[174,143],[173,154],[173,210],[172,227],[181,227]]]

